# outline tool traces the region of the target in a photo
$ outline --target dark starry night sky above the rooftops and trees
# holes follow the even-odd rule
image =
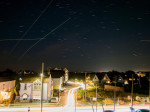
[[[39,40],[40,39],[40,40]],[[150,70],[149,0],[0,0],[0,70]]]

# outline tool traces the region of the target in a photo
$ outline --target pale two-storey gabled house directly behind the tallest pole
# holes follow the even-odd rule
[[[40,77],[23,77],[20,83],[20,102],[37,102],[41,99]],[[43,77],[43,101],[49,102],[53,96],[51,76]]]

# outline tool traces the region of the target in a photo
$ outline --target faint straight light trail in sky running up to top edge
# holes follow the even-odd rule
[[[44,8],[44,10],[40,13],[40,15],[34,20],[34,22],[29,26],[29,28],[25,31],[25,33],[21,36],[21,38],[20,39],[23,39],[25,36],[26,36],[26,34],[31,30],[31,28],[34,26],[34,24],[39,20],[39,18],[45,13],[45,11],[48,9],[48,7],[51,5],[51,3],[53,2],[53,0],[51,0],[50,2],[49,2],[49,4]],[[12,48],[12,50],[10,51],[10,53],[9,54],[12,54],[13,53],[13,51],[16,49],[16,47],[18,46],[18,44],[20,43],[20,41],[21,40],[19,40],[16,44],[15,44],[15,46]]]

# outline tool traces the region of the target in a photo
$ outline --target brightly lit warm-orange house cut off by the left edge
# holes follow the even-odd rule
[[[0,77],[0,103],[10,103],[13,100],[15,80]]]

